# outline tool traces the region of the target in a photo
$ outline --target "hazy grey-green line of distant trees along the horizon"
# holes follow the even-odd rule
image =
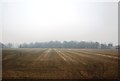
[[[3,44],[0,43],[1,48],[13,48],[12,43]],[[17,48],[97,48],[97,49],[110,49],[118,48],[118,46],[113,46],[112,43],[103,44],[99,42],[86,42],[86,41],[49,41],[49,42],[31,42],[19,44]]]

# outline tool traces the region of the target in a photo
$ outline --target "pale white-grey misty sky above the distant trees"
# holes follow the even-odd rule
[[[118,3],[103,1],[5,0],[0,4],[0,41],[117,44]]]

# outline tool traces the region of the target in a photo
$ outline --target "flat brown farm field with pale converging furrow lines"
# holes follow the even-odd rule
[[[5,79],[116,79],[116,49],[16,48],[2,50]]]

